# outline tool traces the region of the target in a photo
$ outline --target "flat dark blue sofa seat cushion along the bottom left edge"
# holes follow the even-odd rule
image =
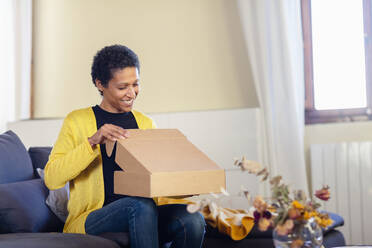
[[[1,248],[119,248],[108,239],[72,233],[12,233],[0,235]]]

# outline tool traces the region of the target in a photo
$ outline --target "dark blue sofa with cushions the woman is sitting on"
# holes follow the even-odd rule
[[[0,134],[0,247],[130,247],[126,233],[105,233],[100,237],[62,233],[63,222],[45,204],[49,190],[36,173],[44,168],[51,147],[31,147],[28,151],[12,131]],[[332,214],[334,225],[324,230],[325,247],[345,245],[342,234],[334,228],[343,219]],[[255,228],[242,241],[207,227],[203,248],[273,247],[271,231]]]

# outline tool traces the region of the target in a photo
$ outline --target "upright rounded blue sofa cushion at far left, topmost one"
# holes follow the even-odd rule
[[[12,131],[0,134],[0,184],[32,178],[32,162],[22,141]]]

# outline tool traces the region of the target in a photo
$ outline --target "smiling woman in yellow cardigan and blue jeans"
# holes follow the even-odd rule
[[[128,138],[126,129],[155,128],[149,117],[132,110],[140,90],[137,55],[121,45],[104,47],[94,57],[91,76],[101,103],[67,115],[45,167],[49,189],[70,182],[64,232],[129,232],[132,248],[167,242],[174,248],[201,247],[205,222],[199,213],[113,192],[113,173],[120,168],[107,157],[105,142]]]

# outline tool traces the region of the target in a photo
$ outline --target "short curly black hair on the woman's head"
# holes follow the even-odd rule
[[[138,56],[132,50],[123,45],[102,48],[93,58],[91,71],[93,84],[96,85],[98,79],[104,87],[107,87],[114,73],[126,67],[136,67],[138,72],[140,70]],[[102,92],[100,93],[102,95]]]

